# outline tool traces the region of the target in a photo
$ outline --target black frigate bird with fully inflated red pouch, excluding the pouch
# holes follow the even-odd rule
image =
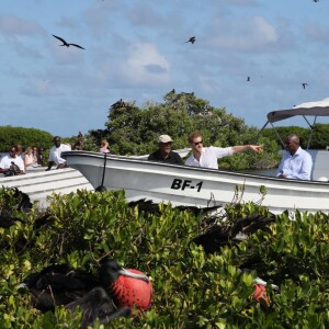
[[[131,316],[132,308],[118,305],[115,299],[115,284],[122,275],[145,282],[149,280],[146,275],[125,270],[113,260],[102,263],[98,276],[63,263],[31,273],[18,290],[22,294],[29,292],[33,306],[43,313],[54,311],[56,306],[63,305],[75,315],[79,306],[81,328],[88,328],[97,318],[101,325],[106,325],[115,318]]]

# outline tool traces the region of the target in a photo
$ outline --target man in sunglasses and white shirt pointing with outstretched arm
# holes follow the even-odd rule
[[[202,135],[194,132],[189,136],[189,143],[192,147],[192,155],[186,159],[185,164],[191,167],[204,167],[218,169],[218,159],[232,156],[235,154],[252,150],[261,154],[263,145],[236,145],[231,147],[203,147]]]

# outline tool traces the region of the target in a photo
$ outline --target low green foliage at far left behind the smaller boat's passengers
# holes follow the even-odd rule
[[[16,144],[21,144],[23,148],[36,146],[47,149],[53,146],[53,136],[35,128],[0,126],[0,151],[7,152]]]

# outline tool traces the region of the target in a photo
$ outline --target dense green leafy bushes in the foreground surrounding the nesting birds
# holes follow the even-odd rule
[[[322,213],[276,216],[270,230],[259,230],[237,247],[211,256],[190,245],[205,220],[162,206],[160,214],[129,208],[123,193],[79,191],[53,195],[48,220],[35,206],[23,213],[11,190],[0,190],[0,214],[20,218],[0,228],[1,328],[79,328],[58,307],[55,316],[31,306],[16,287],[30,273],[50,263],[97,271],[107,254],[154,279],[154,305],[139,318],[118,319],[109,328],[328,328],[329,225]],[[227,206],[228,225],[249,214],[268,215],[252,204]],[[36,228],[37,227],[37,228]],[[189,246],[190,245],[190,246]],[[240,268],[249,262],[251,272]],[[280,286],[268,290],[270,306],[250,298],[256,276]],[[100,328],[95,325],[94,328]]]

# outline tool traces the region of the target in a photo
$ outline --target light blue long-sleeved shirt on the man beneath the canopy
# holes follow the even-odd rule
[[[311,167],[311,156],[299,146],[293,156],[288,151],[284,152],[276,172],[276,177],[284,174],[290,179],[309,181]]]

